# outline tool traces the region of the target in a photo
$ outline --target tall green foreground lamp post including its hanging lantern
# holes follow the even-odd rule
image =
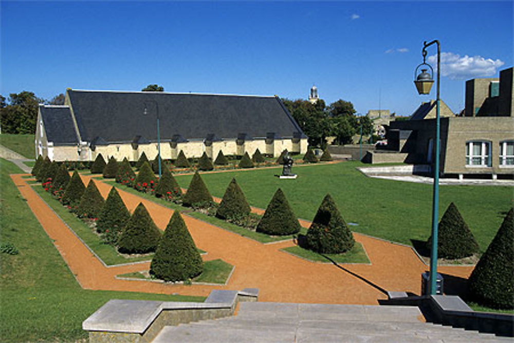
[[[429,94],[430,88],[434,83],[432,67],[425,62],[427,57],[427,47],[437,44],[437,99],[436,99],[436,121],[435,121],[435,158],[434,158],[434,186],[432,194],[432,248],[430,254],[430,294],[435,295],[437,292],[437,225],[439,221],[439,102],[440,102],[440,71],[441,71],[441,46],[438,40],[423,43],[423,63],[416,67],[414,71],[414,84],[419,94]],[[430,67],[432,74],[427,73],[428,69],[421,69],[421,73],[416,77],[417,69],[426,65]]]

